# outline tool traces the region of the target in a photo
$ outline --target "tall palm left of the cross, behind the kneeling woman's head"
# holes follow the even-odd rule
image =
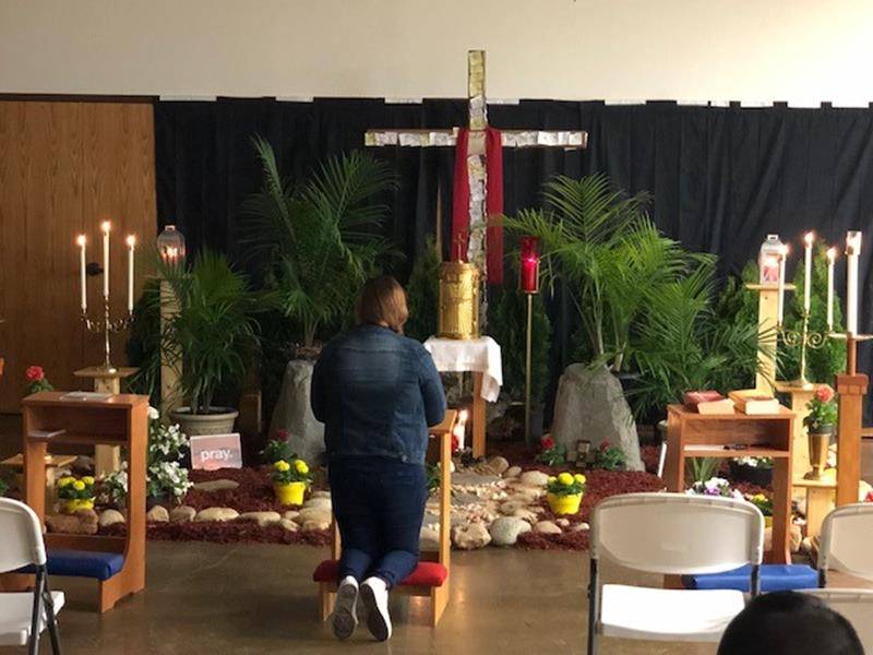
[[[387,206],[374,199],[394,187],[394,175],[354,152],[327,159],[294,187],[283,179],[270,143],[261,136],[253,143],[264,182],[243,203],[242,242],[261,263],[275,303],[311,347],[321,325],[350,312],[358,288],[391,252],[378,234]]]

